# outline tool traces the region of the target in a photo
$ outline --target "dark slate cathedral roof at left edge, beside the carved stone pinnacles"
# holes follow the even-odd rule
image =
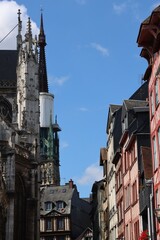
[[[17,50],[0,50],[0,88],[16,87],[17,59]]]

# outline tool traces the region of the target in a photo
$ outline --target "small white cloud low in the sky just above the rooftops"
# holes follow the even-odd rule
[[[83,176],[77,182],[79,185],[90,185],[101,179],[102,169],[97,164],[92,164],[85,169]]]

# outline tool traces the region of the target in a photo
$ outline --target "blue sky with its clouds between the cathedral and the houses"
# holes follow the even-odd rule
[[[43,9],[49,91],[60,133],[61,184],[70,179],[88,197],[102,178],[100,148],[106,146],[109,104],[122,104],[141,85],[147,67],[137,46],[140,23],[160,1],[0,1],[0,39],[28,16],[38,33]],[[0,49],[15,48],[17,30]]]

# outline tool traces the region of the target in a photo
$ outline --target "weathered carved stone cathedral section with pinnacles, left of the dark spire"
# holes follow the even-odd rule
[[[0,50],[0,239],[39,240],[39,76],[31,22]]]

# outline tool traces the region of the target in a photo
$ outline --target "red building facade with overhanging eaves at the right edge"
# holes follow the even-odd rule
[[[153,215],[160,210],[160,6],[141,24],[138,45],[142,47],[141,56],[148,61],[144,80],[148,81],[150,108],[150,138],[153,164]],[[154,218],[154,234],[160,239],[160,224]]]

